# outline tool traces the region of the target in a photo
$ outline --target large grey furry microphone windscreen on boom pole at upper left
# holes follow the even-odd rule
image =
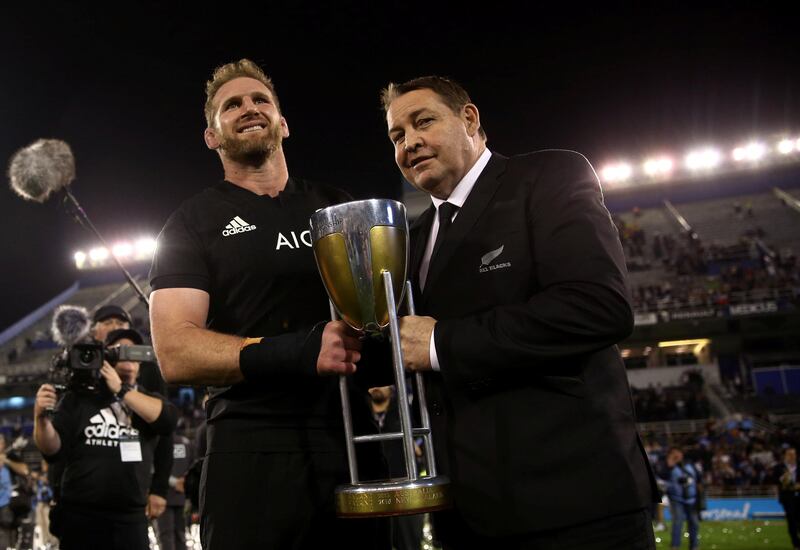
[[[75,157],[66,142],[39,139],[14,153],[8,177],[20,197],[44,202],[75,179]]]

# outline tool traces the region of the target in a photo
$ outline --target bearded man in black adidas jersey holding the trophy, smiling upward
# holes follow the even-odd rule
[[[362,344],[343,322],[325,322],[308,228],[317,209],[350,197],[289,176],[289,127],[256,64],[217,68],[206,96],[205,143],[225,179],[172,214],[150,273],[164,378],[213,387],[203,548],[388,548],[385,521],[335,515],[334,490],[349,474],[331,375],[353,374]],[[348,378],[362,383],[351,391],[357,432],[369,426],[363,388],[386,383],[360,380],[367,370]],[[362,478],[371,465],[379,455],[361,457]]]

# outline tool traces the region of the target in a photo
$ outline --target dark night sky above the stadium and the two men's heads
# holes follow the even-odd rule
[[[425,74],[466,87],[504,154],[567,148],[598,166],[800,132],[800,32],[784,2],[16,4],[0,14],[4,171],[38,138],[69,143],[72,191],[110,242],[157,234],[221,177],[204,85],[241,57],[275,82],[290,173],[357,198],[399,198],[378,94]],[[0,330],[72,284],[72,253],[96,242],[56,199],[25,202],[4,180]]]

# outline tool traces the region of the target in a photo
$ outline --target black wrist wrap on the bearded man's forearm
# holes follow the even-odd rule
[[[316,376],[324,325],[320,323],[308,332],[246,341],[239,352],[242,376],[248,382],[266,381],[281,375]]]

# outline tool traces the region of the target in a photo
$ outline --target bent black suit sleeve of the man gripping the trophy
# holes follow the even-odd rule
[[[558,365],[633,329],[622,246],[594,169],[577,153],[548,155],[538,173],[528,170],[520,182],[527,189],[534,290],[524,303],[436,324],[437,355],[450,383]]]

